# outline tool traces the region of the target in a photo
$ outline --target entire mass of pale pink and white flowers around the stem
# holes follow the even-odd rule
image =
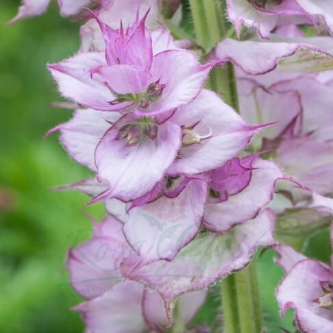
[[[96,174],[64,187],[108,212],[67,260],[73,288],[88,299],[75,308],[87,332],[183,332],[208,286],[262,245],[275,246],[287,273],[282,313],[295,308],[304,332],[332,332],[333,271],[273,234],[275,220],[308,227],[332,216],[333,40],[298,27],[332,32],[330,1],[227,0],[238,37],[249,29],[219,42],[206,64],[187,40],[154,27],[180,1],[58,3],[63,15],[90,18],[79,53],[48,66],[76,109],[50,133]],[[48,4],[25,0],[14,21]],[[226,62],[240,114],[204,88]]]

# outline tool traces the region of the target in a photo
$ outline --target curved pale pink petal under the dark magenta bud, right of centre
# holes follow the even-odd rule
[[[251,181],[239,193],[219,204],[208,204],[204,225],[214,232],[224,232],[238,223],[254,219],[273,199],[275,182],[282,177],[280,169],[271,161],[258,158],[252,163]]]

